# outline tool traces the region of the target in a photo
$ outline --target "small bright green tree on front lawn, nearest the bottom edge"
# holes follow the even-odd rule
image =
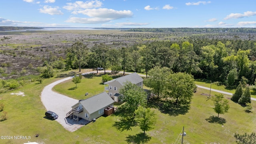
[[[156,114],[150,108],[143,108],[139,106],[137,110],[135,110],[135,118],[139,123],[140,129],[142,131],[152,130],[154,125],[156,124]]]

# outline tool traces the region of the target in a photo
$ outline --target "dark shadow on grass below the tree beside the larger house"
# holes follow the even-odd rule
[[[119,122],[115,122],[113,126],[122,132],[124,130],[132,130],[132,127],[137,126],[137,124],[134,118],[121,118],[121,120]]]

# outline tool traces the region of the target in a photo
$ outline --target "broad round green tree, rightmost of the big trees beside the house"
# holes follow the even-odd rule
[[[166,96],[176,99],[176,104],[187,104],[192,100],[196,84],[191,74],[170,74],[166,83]]]

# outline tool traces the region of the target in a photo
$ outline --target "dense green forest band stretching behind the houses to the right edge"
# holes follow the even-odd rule
[[[78,68],[78,64],[82,64],[82,67],[120,67],[122,70],[148,72],[160,66],[229,86],[240,81],[254,84],[256,78],[256,41],[252,40],[191,37],[187,41],[154,41],[119,49],[105,44],[95,44],[87,52],[76,48],[66,51],[68,68]],[[83,55],[80,59],[76,56],[79,53]]]

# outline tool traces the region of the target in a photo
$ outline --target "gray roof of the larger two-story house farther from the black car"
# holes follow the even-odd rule
[[[109,83],[112,83],[114,81],[118,81],[122,86],[124,86],[124,82],[126,82],[126,81],[130,81],[132,84],[138,84],[139,82],[142,82],[143,79],[136,72],[134,72],[132,74],[121,76],[121,77],[116,78],[114,80],[104,82],[104,84],[109,84]]]

